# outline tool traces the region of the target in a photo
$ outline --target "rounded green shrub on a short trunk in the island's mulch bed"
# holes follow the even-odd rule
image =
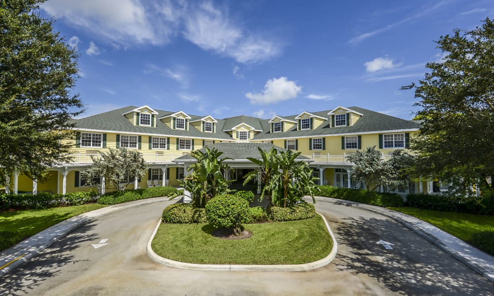
[[[248,202],[237,195],[218,195],[206,203],[206,217],[215,228],[233,228],[236,235],[242,234],[242,224],[249,222]]]

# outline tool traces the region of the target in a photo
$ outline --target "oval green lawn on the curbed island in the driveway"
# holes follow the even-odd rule
[[[202,264],[301,264],[328,256],[331,236],[323,219],[247,224],[252,237],[213,237],[207,223],[162,223],[152,242],[156,254]]]

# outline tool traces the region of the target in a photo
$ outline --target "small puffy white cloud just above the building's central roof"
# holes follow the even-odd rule
[[[302,91],[302,87],[287,77],[269,79],[260,93],[248,92],[246,97],[250,104],[266,105],[295,98]]]

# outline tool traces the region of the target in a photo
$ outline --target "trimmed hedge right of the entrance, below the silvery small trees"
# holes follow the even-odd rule
[[[379,207],[402,207],[403,198],[396,193],[371,192],[361,189],[320,186],[321,196],[361,202]]]

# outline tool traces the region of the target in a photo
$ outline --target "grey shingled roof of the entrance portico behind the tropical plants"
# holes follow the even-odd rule
[[[271,148],[276,148],[278,151],[287,151],[287,149],[275,146],[271,143],[248,143],[248,142],[216,143],[209,146],[208,148],[213,148],[213,147],[223,152],[220,158],[229,157],[235,160],[240,160],[240,159],[244,160],[247,159],[247,157],[260,159],[261,155],[259,154],[258,148],[261,148],[264,151],[269,151],[271,150]],[[206,151],[205,148],[202,148],[200,150],[203,152]],[[302,155],[298,155],[296,159],[312,161],[311,159]],[[178,157],[174,161],[182,162],[182,161],[193,161],[193,160],[196,159],[190,155],[183,155]]]

